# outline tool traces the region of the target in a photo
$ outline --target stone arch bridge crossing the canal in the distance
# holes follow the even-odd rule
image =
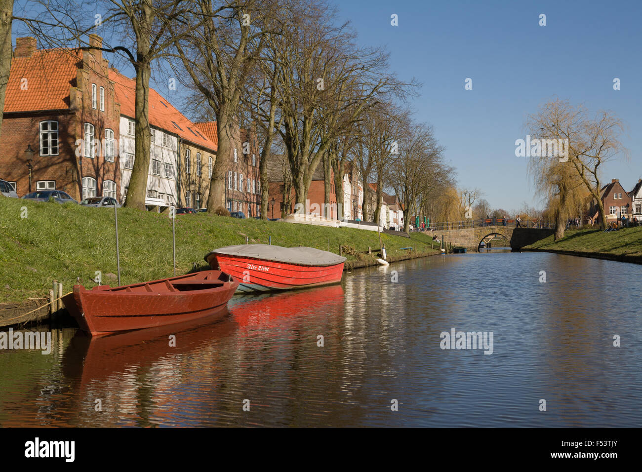
[[[489,240],[490,236],[499,235],[506,238],[512,249],[521,249],[535,241],[542,240],[553,234],[553,229],[548,228],[516,228],[512,226],[474,226],[461,229],[435,229],[435,235],[447,245],[478,249],[482,241]]]

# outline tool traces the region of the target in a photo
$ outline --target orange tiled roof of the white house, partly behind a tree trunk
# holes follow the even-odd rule
[[[109,69],[109,78],[114,81],[116,101],[121,105],[121,114],[135,118],[134,79],[130,79],[114,69]],[[192,123],[181,112],[150,88],[150,125],[171,134],[177,134],[186,141],[216,152],[217,143],[207,137],[195,123]]]

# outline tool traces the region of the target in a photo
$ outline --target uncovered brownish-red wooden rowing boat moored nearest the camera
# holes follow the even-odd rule
[[[74,285],[62,301],[80,328],[101,336],[222,316],[238,284],[220,270],[205,270],[121,287]]]

